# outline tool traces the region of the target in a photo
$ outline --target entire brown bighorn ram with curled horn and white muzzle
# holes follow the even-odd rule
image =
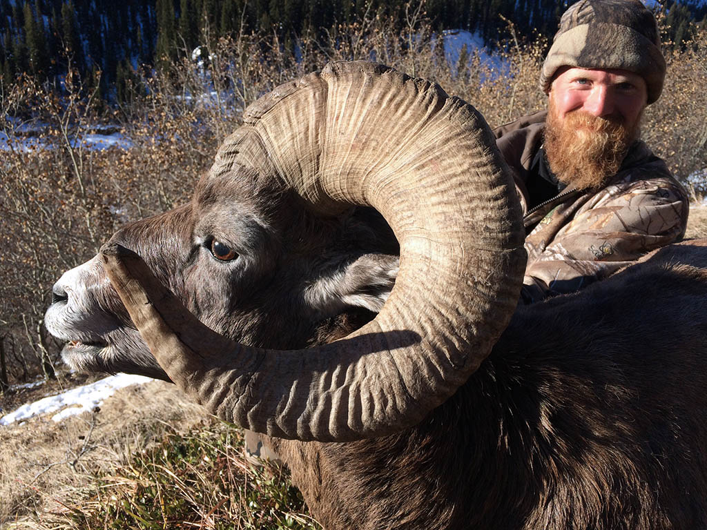
[[[520,211],[472,107],[337,63],[244,122],[190,204],[54,286],[69,364],[264,433],[327,529],[707,525],[707,249],[516,307]]]

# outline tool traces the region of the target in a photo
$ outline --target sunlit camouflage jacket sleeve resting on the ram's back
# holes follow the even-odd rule
[[[681,239],[687,213],[684,189],[672,177],[613,184],[573,216],[556,208],[526,238],[522,299],[578,290]]]

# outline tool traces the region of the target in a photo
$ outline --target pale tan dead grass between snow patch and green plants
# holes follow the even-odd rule
[[[173,384],[155,381],[120,389],[93,413],[0,428],[0,527],[42,528],[44,515],[69,510],[97,473],[215,421]]]

